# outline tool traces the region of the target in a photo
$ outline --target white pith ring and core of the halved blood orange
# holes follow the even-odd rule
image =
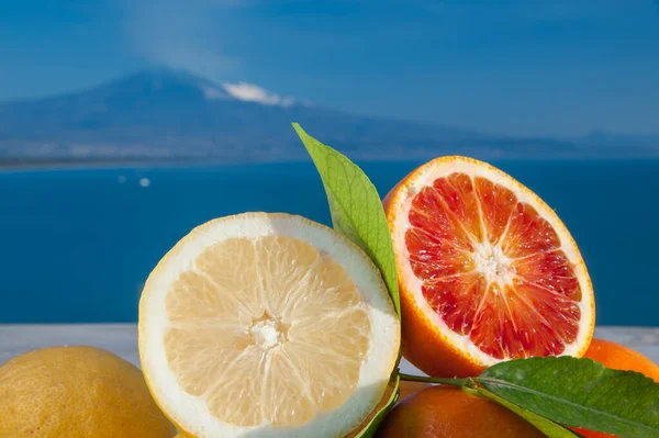
[[[560,250],[565,252],[570,265],[574,271],[576,277],[579,280],[579,285],[582,291],[582,300],[579,303],[581,311],[581,323],[579,324],[579,333],[576,340],[572,344],[566,345],[563,352],[560,356],[574,356],[579,352],[588,341],[589,337],[592,336],[592,325],[590,323],[592,317],[592,310],[594,308],[592,293],[588,292],[592,290],[590,284],[590,278],[581,263],[581,256],[579,249],[565,225],[552,214],[551,210],[544,203],[538,202],[538,198],[525,189],[521,184],[517,184],[511,177],[506,176],[502,171],[494,169],[490,166],[483,166],[483,164],[477,164],[469,159],[457,157],[454,160],[447,160],[443,162],[429,162],[420,168],[415,175],[406,181],[406,183],[400,188],[395,198],[392,199],[390,210],[396,212],[394,222],[392,224],[392,238],[393,247],[396,257],[396,265],[401,271],[399,281],[403,281],[406,284],[406,290],[413,295],[413,301],[416,306],[424,313],[425,317],[428,318],[442,336],[446,337],[448,341],[457,349],[471,357],[482,366],[492,366],[504,359],[496,359],[480,350],[469,338],[469,335],[459,335],[453,332],[447,324],[435,313],[428,302],[425,300],[422,293],[423,282],[412,271],[410,263],[410,252],[405,245],[405,233],[410,228],[409,214],[412,205],[414,195],[418,193],[424,187],[432,186],[437,178],[448,177],[451,173],[465,173],[472,179],[474,177],[483,177],[490,181],[500,184],[511,190],[517,196],[518,202],[527,203],[534,206],[538,213],[551,225],[551,227],[559,235],[561,247]],[[488,243],[480,243],[476,245],[476,251],[471,255],[472,260],[476,263],[477,270],[483,273],[489,283],[498,282],[505,284],[512,281],[514,277],[514,270],[511,269],[509,257],[503,254],[501,248],[496,245],[490,245]]]

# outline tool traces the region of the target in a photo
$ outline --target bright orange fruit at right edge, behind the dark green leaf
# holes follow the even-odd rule
[[[640,352],[612,340],[593,338],[583,357],[595,360],[602,363],[604,367],[612,368],[614,370],[637,371],[652,379],[655,382],[659,382],[659,366],[657,363],[652,362],[649,358]],[[601,431],[585,430],[581,428],[574,428],[574,430],[587,438],[613,437],[613,435]]]

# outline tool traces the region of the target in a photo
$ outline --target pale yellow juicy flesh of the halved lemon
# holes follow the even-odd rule
[[[174,282],[166,311],[178,383],[236,426],[298,426],[340,406],[369,348],[357,287],[332,257],[291,237],[210,246]]]

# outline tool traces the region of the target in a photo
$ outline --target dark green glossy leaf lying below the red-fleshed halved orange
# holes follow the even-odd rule
[[[659,383],[637,372],[565,356],[501,362],[476,381],[556,423],[622,438],[659,437]]]

